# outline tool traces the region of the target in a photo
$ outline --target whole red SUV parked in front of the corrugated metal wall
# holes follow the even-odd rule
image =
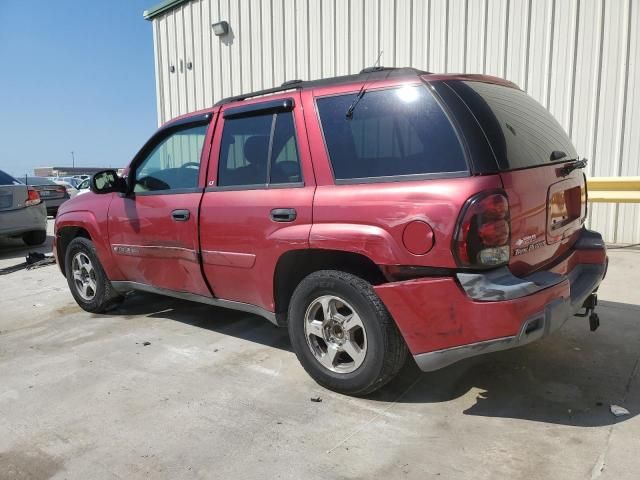
[[[164,125],[60,207],[54,251],[87,311],[142,290],[252,312],[318,383],[363,395],[408,353],[435,370],[582,308],[597,327],[585,163],[499,78],[293,81]]]

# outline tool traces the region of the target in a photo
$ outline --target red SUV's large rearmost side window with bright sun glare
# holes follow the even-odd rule
[[[426,87],[406,85],[317,99],[336,181],[467,172],[451,122]]]

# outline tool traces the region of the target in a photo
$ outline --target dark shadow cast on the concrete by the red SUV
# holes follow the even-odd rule
[[[596,427],[633,418],[640,412],[640,310],[603,302],[603,326],[589,331],[582,319],[569,321],[556,335],[510,351],[487,354],[430,373],[411,358],[387,386],[369,400],[440,403],[470,396],[465,415],[517,418]],[[115,315],[175,320],[273,348],[291,350],[286,329],[251,314],[167,297],[132,293]],[[610,404],[631,415],[614,417]]]

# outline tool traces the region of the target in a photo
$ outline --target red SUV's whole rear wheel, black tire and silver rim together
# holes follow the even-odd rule
[[[322,270],[296,288],[289,336],[304,369],[320,385],[366,395],[400,370],[407,347],[371,284],[346,272]]]

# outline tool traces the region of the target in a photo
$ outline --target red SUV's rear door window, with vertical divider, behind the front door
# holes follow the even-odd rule
[[[302,182],[291,112],[225,119],[218,186]]]

